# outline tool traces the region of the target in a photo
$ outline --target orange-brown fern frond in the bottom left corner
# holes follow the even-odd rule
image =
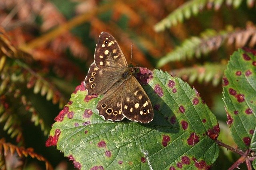
[[[36,158],[37,160],[45,162],[46,170],[53,170],[52,165],[50,164],[50,162],[48,162],[48,160],[46,160],[46,158],[44,158],[44,156],[34,152],[34,149],[32,149],[32,148],[27,148],[26,149],[24,147],[18,147],[16,145],[6,143],[4,139],[0,139],[0,154],[5,156],[6,154],[8,154],[8,152],[10,152],[12,155],[14,153],[17,153],[17,155],[19,157],[23,157],[23,156],[28,157],[28,156],[30,156],[32,158]],[[0,167],[0,168],[2,168],[2,167]]]

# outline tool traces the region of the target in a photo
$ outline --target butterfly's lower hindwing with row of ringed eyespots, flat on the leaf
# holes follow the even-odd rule
[[[110,90],[110,92],[106,93],[98,102],[97,109],[105,120],[121,121],[124,119],[121,109],[123,92],[124,87],[119,86],[117,90]]]

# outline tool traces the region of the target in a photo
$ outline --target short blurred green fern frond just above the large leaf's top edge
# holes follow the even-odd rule
[[[198,80],[199,83],[209,83],[212,81],[213,86],[217,86],[222,79],[226,64],[204,64],[203,66],[193,66],[170,71],[173,76],[181,77],[193,83]]]

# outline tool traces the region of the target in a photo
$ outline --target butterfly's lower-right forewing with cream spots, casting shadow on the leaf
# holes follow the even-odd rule
[[[154,111],[148,95],[134,76],[124,82],[125,95],[122,100],[122,113],[131,121],[149,123]]]

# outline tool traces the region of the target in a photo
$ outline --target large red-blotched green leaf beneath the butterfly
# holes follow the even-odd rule
[[[46,146],[57,145],[80,169],[209,168],[218,157],[216,117],[195,89],[166,72],[140,73],[152,106],[148,124],[105,121],[81,83],[55,118]]]

